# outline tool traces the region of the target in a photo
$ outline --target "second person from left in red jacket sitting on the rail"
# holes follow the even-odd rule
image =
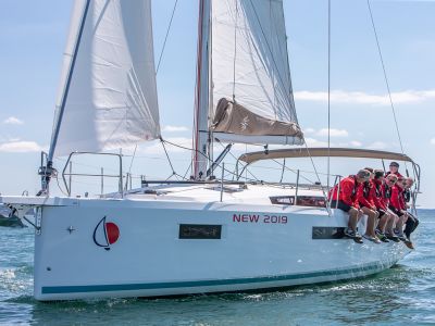
[[[377,213],[376,205],[373,202],[373,198],[370,196],[372,188],[372,178],[374,177],[373,168],[365,167],[364,170],[370,172],[370,178],[360,184],[357,190],[360,210],[368,216],[365,234],[363,235],[363,237],[375,243],[381,243],[381,240],[376,237],[375,234],[377,217],[380,216],[380,213]]]

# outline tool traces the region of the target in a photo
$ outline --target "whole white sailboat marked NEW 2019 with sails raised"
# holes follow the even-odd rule
[[[64,54],[49,153],[38,196],[2,196],[35,215],[37,300],[160,297],[282,288],[380,273],[410,250],[356,243],[325,186],[252,181],[262,160],[402,153],[302,146],[281,0],[200,0],[192,176],[126,189],[122,155],[161,138],[150,0],[77,0]],[[215,160],[213,143],[228,143]],[[282,145],[245,153],[225,179],[232,143]],[[120,160],[117,192],[55,197],[53,158]],[[65,168],[67,166],[65,165]],[[65,168],[62,176],[65,179]],[[221,168],[222,176],[216,176]],[[67,183],[65,183],[67,186]],[[71,190],[71,189],[69,189]],[[363,229],[364,218],[359,228]]]

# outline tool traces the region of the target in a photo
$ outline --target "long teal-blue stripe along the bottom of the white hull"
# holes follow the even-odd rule
[[[175,288],[194,288],[194,287],[210,287],[223,285],[243,285],[258,284],[266,281],[294,280],[313,277],[339,276],[345,274],[356,274],[365,272],[365,275],[381,272],[385,265],[375,263],[366,264],[360,267],[347,269],[332,269],[303,274],[290,274],[270,277],[253,277],[253,278],[231,278],[231,279],[213,279],[213,280],[190,280],[190,281],[169,281],[169,283],[145,283],[145,284],[119,284],[119,285],[90,285],[90,286],[57,286],[42,287],[42,294],[55,293],[83,293],[83,292],[109,292],[109,291],[135,291],[135,290],[151,290],[151,289],[175,289]]]

